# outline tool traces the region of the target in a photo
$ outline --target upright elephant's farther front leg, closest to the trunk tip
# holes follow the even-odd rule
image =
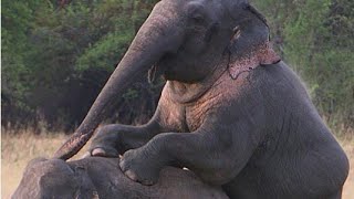
[[[86,156],[118,157],[128,149],[145,145],[158,132],[156,123],[143,126],[105,125],[97,129]]]

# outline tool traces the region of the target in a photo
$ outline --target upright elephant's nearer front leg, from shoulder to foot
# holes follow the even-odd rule
[[[163,133],[143,147],[126,151],[119,166],[131,179],[155,184],[163,167],[178,163],[204,181],[223,185],[241,171],[262,139],[261,108],[236,119],[239,117],[230,114],[229,107],[220,108],[191,133]]]

